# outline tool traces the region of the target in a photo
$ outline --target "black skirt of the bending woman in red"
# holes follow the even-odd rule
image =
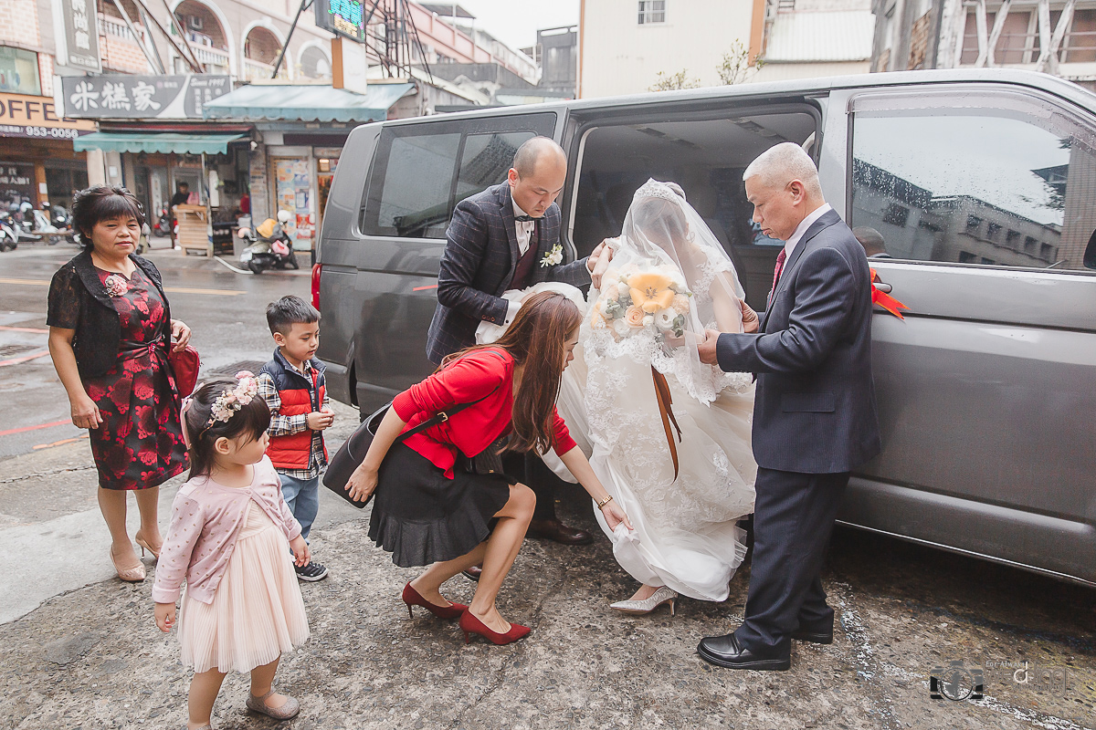
[[[460,470],[449,479],[419,452],[395,443],[378,473],[369,538],[401,568],[467,555],[491,534],[514,482]]]

